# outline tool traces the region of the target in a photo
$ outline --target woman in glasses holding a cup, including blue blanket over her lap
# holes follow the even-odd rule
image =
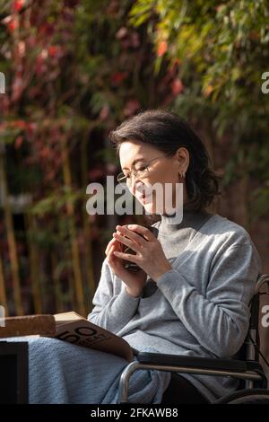
[[[185,121],[165,110],[127,119],[110,139],[123,171],[117,180],[161,220],[152,224],[154,233],[138,224],[116,227],[88,319],[136,350],[234,356],[247,334],[248,303],[261,262],[243,227],[208,212],[219,190],[203,143]],[[173,207],[163,198],[160,211],[155,191],[143,195],[156,182],[171,186]],[[178,183],[183,183],[182,202]],[[123,245],[133,253],[124,252]],[[127,269],[123,259],[140,269]],[[29,341],[30,402],[117,402],[125,359],[54,338]],[[230,377],[180,374],[179,379],[178,403],[189,397],[213,401],[238,386]],[[137,371],[129,401],[160,403],[169,381],[169,372]]]

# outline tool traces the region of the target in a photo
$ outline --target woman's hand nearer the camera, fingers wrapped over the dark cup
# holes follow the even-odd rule
[[[128,259],[139,265],[155,282],[169,269],[172,269],[169,260],[164,255],[161,243],[149,229],[139,224],[128,224],[128,228],[117,225],[116,228],[119,233],[113,233],[115,239],[136,252],[136,255],[132,255],[131,253],[115,251],[114,254],[118,258]],[[142,234],[142,236],[135,232]]]

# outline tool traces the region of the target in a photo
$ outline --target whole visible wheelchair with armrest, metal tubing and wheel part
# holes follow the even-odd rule
[[[261,292],[261,288],[266,286],[265,293]],[[165,391],[164,396],[169,397],[169,403],[177,404],[178,396],[178,374],[205,374],[214,376],[231,376],[238,378],[239,391],[222,397],[216,400],[215,403],[231,401],[240,403],[244,401],[260,402],[263,397],[264,402],[269,404],[269,390],[267,389],[267,380],[263,367],[259,364],[259,303],[260,295],[269,295],[269,274],[264,274],[257,279],[255,295],[253,296],[250,307],[250,321],[247,338],[243,346],[240,348],[235,359],[218,359],[199,356],[178,356],[178,355],[164,355],[161,353],[147,353],[138,352],[134,361],[126,366],[121,374],[119,382],[118,403],[127,403],[129,379],[134,371],[137,369],[147,370],[156,369],[158,371],[171,372],[171,380],[168,389]],[[253,394],[251,394],[253,391]],[[259,394],[262,391],[263,394]],[[168,394],[169,393],[169,394]],[[233,397],[235,395],[235,397]],[[238,397],[239,396],[239,397]],[[225,401],[226,398],[226,401]],[[221,401],[222,400],[222,401]],[[230,400],[230,401],[229,401]],[[248,400],[248,401],[247,401]],[[166,400],[162,400],[161,404],[166,404]],[[195,402],[194,402],[195,404]]]

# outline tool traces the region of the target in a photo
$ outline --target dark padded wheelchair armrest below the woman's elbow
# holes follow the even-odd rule
[[[165,355],[162,353],[139,352],[138,362],[142,364],[156,364],[168,366],[185,366],[223,371],[245,372],[249,370],[248,362],[235,359],[218,359],[211,357]],[[255,364],[255,365],[254,365]],[[259,369],[260,365],[251,362],[251,370]]]

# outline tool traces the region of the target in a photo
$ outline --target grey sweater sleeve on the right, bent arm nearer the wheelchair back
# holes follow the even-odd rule
[[[158,279],[157,286],[198,343],[225,358],[235,355],[246,338],[248,303],[260,273],[256,248],[243,243],[213,259],[205,295],[188,281],[187,274],[174,268]]]

